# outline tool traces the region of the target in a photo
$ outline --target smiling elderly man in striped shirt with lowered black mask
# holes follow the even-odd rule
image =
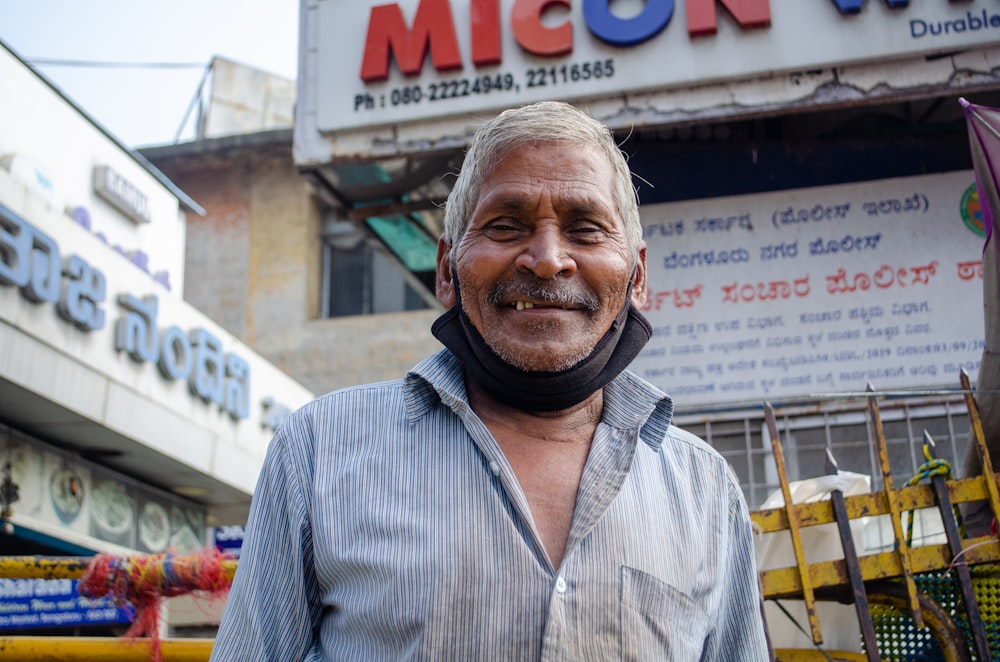
[[[278,430],[212,659],[767,659],[739,485],[625,370],[646,251],[606,127],[480,129],[437,296],[445,349]]]

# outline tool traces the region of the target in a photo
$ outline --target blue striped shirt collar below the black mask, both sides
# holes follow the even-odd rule
[[[462,365],[447,349],[418,363],[404,380],[406,413],[411,421],[438,401],[458,413],[469,408]],[[673,419],[670,396],[628,370],[604,387],[601,422],[622,430],[639,429],[640,438],[658,449]]]

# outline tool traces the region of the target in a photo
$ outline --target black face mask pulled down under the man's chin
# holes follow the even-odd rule
[[[523,411],[559,411],[583,402],[628,367],[652,334],[649,322],[630,302],[630,284],[625,306],[585,359],[559,372],[522,370],[486,344],[462,308],[454,271],[452,280],[457,302],[434,321],[431,333],[491,396]]]

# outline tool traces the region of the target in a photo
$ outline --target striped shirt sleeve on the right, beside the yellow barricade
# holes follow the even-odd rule
[[[753,524],[743,493],[727,467],[729,491],[729,546],[723,567],[719,621],[703,660],[757,662],[770,658],[764,632],[760,577],[753,547]]]

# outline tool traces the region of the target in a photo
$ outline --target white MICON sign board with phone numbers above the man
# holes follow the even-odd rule
[[[300,90],[299,99],[309,104],[316,129],[327,134],[542,99],[579,101],[883,61],[1000,39],[994,0],[889,4],[306,0],[300,85],[314,89]],[[697,16],[710,16],[708,32],[692,25],[704,24]]]

